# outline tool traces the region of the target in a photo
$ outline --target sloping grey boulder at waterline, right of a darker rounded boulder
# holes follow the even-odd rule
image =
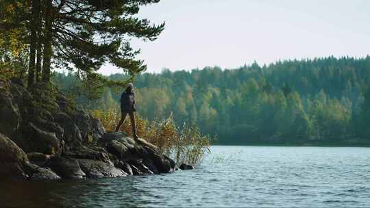
[[[112,164],[93,159],[78,159],[79,166],[92,179],[125,177],[127,174]]]

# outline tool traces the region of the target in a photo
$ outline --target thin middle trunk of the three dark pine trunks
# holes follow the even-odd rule
[[[38,10],[38,16],[37,16],[37,57],[36,57],[36,82],[40,82],[41,77],[41,62],[42,62],[42,25],[41,25],[41,6],[40,6],[40,0],[34,0],[37,2],[37,10]]]

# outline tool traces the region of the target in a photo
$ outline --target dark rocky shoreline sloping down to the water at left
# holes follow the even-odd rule
[[[61,92],[0,79],[0,180],[99,179],[175,171],[143,139],[106,131]],[[182,164],[181,169],[192,169]]]

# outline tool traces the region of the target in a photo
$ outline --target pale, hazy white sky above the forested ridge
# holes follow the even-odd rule
[[[132,40],[149,73],[370,54],[367,0],[161,0],[139,13],[166,23],[157,40]]]

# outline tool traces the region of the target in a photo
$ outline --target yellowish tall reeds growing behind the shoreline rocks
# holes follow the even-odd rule
[[[92,114],[101,121],[107,131],[114,131],[121,119],[121,112],[117,109],[93,110]],[[172,157],[178,165],[198,166],[204,156],[210,153],[211,138],[208,135],[201,135],[197,127],[186,123],[177,127],[172,116],[149,122],[136,114],[136,128],[140,138],[156,145],[160,153]],[[128,116],[121,127],[121,131],[124,131],[127,135],[132,135]]]

